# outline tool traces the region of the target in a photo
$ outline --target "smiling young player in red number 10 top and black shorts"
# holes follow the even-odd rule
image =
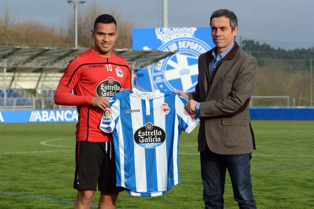
[[[116,164],[112,135],[102,132],[99,123],[109,106],[105,97],[131,89],[131,72],[126,60],[112,53],[117,38],[116,20],[109,14],[96,18],[91,30],[95,46],[68,64],[55,93],[55,103],[76,105],[76,169],[78,190],[74,208],[90,208],[97,182],[98,208],[115,208],[124,188],[116,187]],[[69,92],[73,89],[74,95]]]

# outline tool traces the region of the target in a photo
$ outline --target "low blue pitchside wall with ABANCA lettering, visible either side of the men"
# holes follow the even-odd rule
[[[314,107],[252,107],[252,120],[314,120]],[[51,123],[78,121],[76,110],[0,111],[0,123]]]

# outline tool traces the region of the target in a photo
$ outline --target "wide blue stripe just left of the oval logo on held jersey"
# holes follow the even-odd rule
[[[133,140],[128,140],[130,137],[133,138],[133,127],[132,127],[132,117],[131,114],[125,114],[125,110],[130,110],[130,96],[124,97],[120,100],[120,117],[122,125],[122,135],[124,144],[124,168],[127,172],[124,172],[124,179],[126,187],[136,188],[135,180],[135,159],[134,159],[134,142]]]

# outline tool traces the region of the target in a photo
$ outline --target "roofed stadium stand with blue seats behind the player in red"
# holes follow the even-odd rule
[[[0,71],[0,81],[3,81],[0,83],[0,110],[75,108],[58,106],[53,97],[69,60],[86,50],[0,46],[0,69],[3,69],[3,73]],[[134,71],[176,53],[127,49],[113,52],[128,61],[132,79]],[[6,94],[4,89],[8,90]]]

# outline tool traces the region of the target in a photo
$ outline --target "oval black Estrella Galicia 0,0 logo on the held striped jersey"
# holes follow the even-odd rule
[[[134,133],[134,141],[145,148],[155,148],[166,140],[165,131],[154,126],[152,123],[146,123]]]

